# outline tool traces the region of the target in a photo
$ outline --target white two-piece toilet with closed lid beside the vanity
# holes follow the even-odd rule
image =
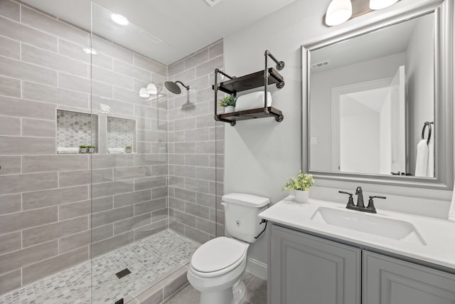
[[[264,230],[258,214],[269,199],[243,193],[223,196],[225,226],[230,238],[220,236],[200,246],[191,257],[188,281],[200,291],[200,304],[240,304],[245,299],[241,281],[247,267],[247,251]]]

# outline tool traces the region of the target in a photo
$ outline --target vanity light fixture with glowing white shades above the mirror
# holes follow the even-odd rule
[[[325,26],[338,26],[349,19],[370,13],[377,9],[385,9],[400,0],[332,0],[328,4]]]

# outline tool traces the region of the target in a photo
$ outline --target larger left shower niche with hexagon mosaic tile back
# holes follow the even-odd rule
[[[98,116],[57,110],[57,147],[98,146]]]

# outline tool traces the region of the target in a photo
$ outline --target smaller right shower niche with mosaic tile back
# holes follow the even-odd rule
[[[107,148],[132,146],[134,150],[136,122],[117,117],[107,117]]]

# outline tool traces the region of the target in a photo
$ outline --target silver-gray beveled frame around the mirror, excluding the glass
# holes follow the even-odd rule
[[[343,182],[387,184],[403,187],[452,190],[454,188],[454,21],[453,1],[434,0],[411,9],[390,11],[367,26],[348,28],[345,33],[301,46],[302,60],[302,170],[316,179]],[[391,26],[408,19],[434,13],[434,107],[435,107],[435,175],[434,178],[375,175],[311,170],[309,145],[310,52],[355,36]]]

